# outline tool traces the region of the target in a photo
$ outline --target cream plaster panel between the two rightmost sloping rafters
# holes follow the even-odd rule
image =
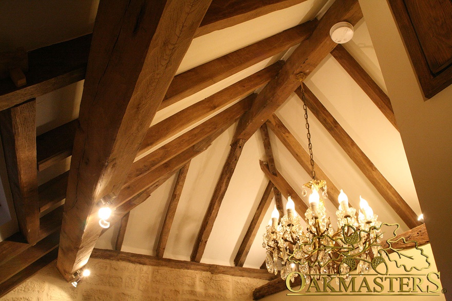
[[[329,55],[307,85],[410,207],[419,201],[399,131]]]

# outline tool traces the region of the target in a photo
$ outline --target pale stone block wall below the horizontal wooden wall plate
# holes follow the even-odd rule
[[[91,275],[78,288],[66,283],[56,261],[36,273],[2,301],[44,300],[252,300],[267,280],[154,267],[91,258]]]

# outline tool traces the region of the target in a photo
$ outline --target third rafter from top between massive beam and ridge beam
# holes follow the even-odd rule
[[[281,66],[283,66],[283,63],[276,62],[151,126],[146,136],[144,136],[143,142],[141,142],[140,152],[138,154],[140,155],[146,152],[148,149],[171,138],[181,130],[214,114],[231,103],[250,95],[250,93],[274,78],[281,69]]]

